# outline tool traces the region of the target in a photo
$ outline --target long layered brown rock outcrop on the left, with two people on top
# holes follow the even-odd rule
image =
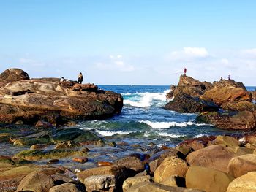
[[[98,90],[93,84],[78,85],[71,81],[60,84],[56,78],[28,79],[20,69],[7,69],[1,74],[4,82],[0,87],[1,123],[21,120],[35,124],[45,120],[58,126],[70,119],[108,118],[123,107],[120,94]]]

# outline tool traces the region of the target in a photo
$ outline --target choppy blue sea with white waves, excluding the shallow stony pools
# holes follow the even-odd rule
[[[175,146],[184,139],[234,133],[195,123],[195,114],[162,109],[167,103],[165,95],[170,86],[99,85],[99,88],[121,93],[124,97],[121,114],[107,120],[83,121],[78,127],[95,131],[108,141]],[[249,91],[255,88],[247,87]]]

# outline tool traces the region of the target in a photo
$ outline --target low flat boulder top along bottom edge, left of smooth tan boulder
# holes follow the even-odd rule
[[[136,183],[135,185],[132,185],[131,188],[127,190],[127,192],[148,192],[148,191],[154,191],[154,192],[203,192],[201,190],[197,189],[190,189],[190,188],[178,188],[178,187],[172,187],[167,185],[162,185],[159,183],[150,183],[150,182],[142,182],[142,183]]]

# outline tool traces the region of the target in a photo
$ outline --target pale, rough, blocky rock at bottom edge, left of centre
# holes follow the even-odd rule
[[[115,175],[94,175],[84,180],[86,191],[113,191],[116,186]]]

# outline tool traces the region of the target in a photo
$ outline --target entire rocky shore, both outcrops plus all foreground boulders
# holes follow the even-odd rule
[[[176,147],[108,142],[93,131],[69,128],[76,120],[121,112],[121,95],[93,84],[29,80],[26,72],[7,69],[0,75],[0,94],[0,143],[20,147],[0,155],[1,191],[256,191],[255,104],[241,82],[211,84],[181,76],[168,93],[174,99],[167,110],[200,112],[198,122],[251,132],[203,136]],[[98,161],[95,146],[133,153]]]

